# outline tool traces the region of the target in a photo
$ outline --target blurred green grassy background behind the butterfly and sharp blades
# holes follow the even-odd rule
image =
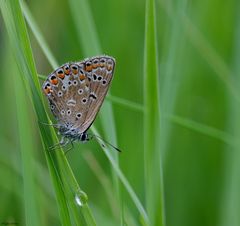
[[[86,46],[81,45],[69,1],[25,2],[60,65],[90,57],[84,54]],[[88,4],[102,54],[116,58],[111,95],[143,106],[145,1],[90,0]],[[156,1],[161,107],[157,136],[166,226],[240,225],[239,11],[237,0]],[[53,68],[28,31],[37,71],[47,75]],[[13,87],[18,71],[2,18],[0,62],[0,223],[24,225],[18,93]],[[119,164],[145,206],[143,111],[112,104],[118,146],[123,150]],[[32,107],[28,111],[40,216],[44,225],[60,225],[37,119]],[[99,118],[94,125],[104,136]],[[67,158],[97,224],[120,225],[111,166],[97,143],[77,144]],[[136,207],[125,189],[121,191],[126,225],[141,225]]]

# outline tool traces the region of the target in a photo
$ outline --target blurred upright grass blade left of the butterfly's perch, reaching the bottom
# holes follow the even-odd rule
[[[34,144],[33,139],[30,139],[33,131],[30,126],[26,126],[29,123],[28,100],[20,77],[15,76],[13,80],[16,90],[18,130],[22,156],[25,221],[26,225],[40,226],[42,224],[39,216],[39,200],[35,183],[37,173],[34,167]]]

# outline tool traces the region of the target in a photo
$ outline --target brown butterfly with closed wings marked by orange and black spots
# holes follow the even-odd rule
[[[115,60],[97,56],[66,63],[53,71],[42,85],[57,128],[69,141],[88,140],[87,130],[104,101],[113,78]]]

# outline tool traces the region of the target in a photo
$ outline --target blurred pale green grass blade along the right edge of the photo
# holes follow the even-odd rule
[[[234,51],[233,51],[233,71],[234,71],[234,82],[237,86],[237,89],[240,88],[240,16],[239,16],[240,5],[238,4],[236,8],[235,21],[236,27],[234,29]],[[222,197],[222,205],[220,209],[220,226],[238,226],[240,225],[240,180],[239,180],[239,172],[240,172],[240,105],[235,99],[229,96],[230,102],[230,111],[229,111],[229,128],[232,131],[234,137],[236,137],[236,145],[231,148],[233,150],[229,152],[229,148],[227,147],[227,155],[226,159],[226,167],[225,167],[225,177],[223,183],[223,197]]]

